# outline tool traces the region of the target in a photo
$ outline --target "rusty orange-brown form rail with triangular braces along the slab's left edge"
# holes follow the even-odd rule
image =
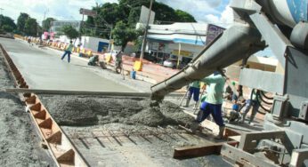
[[[5,64],[9,68],[15,86],[28,89],[28,84],[1,44],[0,49],[4,54]],[[30,117],[43,140],[42,145],[48,148],[57,166],[89,166],[61,130],[61,127],[53,120],[52,115],[49,114],[36,94],[20,94],[20,99],[25,101]]]

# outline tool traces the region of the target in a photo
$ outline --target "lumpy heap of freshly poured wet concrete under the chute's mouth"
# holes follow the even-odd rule
[[[60,125],[85,126],[106,123],[140,124],[151,127],[185,125],[193,118],[171,102],[150,107],[149,99],[39,95],[53,119]]]

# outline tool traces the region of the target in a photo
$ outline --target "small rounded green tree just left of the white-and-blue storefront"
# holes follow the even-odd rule
[[[112,30],[114,43],[121,46],[124,51],[126,44],[134,41],[138,34],[134,28],[129,28],[123,21],[118,21],[116,27]]]

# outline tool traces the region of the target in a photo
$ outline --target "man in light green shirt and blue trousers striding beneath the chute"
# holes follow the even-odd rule
[[[224,123],[222,106],[225,78],[219,71],[215,71],[213,75],[207,76],[201,81],[207,83],[207,99],[201,104],[196,120],[191,123],[190,130],[196,131],[199,123],[202,123],[211,114],[215,123],[219,126],[219,133],[215,139],[223,139]]]

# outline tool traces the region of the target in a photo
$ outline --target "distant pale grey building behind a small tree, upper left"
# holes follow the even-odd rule
[[[73,28],[76,28],[77,31],[79,31],[81,21],[77,20],[54,20],[52,23],[52,27],[50,29],[50,32],[53,32],[56,37],[59,37],[63,35],[62,32],[63,26],[72,26]]]

